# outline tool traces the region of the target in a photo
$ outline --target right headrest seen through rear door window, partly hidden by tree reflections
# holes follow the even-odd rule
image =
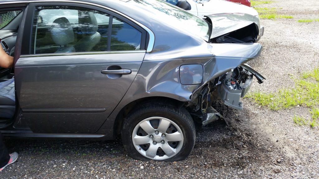
[[[94,34],[98,30],[98,21],[93,12],[78,11],[79,16],[79,33]]]

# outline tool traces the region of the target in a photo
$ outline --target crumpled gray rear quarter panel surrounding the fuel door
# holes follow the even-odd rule
[[[158,47],[155,47],[158,48]],[[208,82],[225,74],[238,65],[256,58],[262,51],[259,43],[251,44],[207,44],[182,49],[146,53],[144,61],[130,89],[108,117],[101,129],[112,129],[120,110],[132,101],[144,97],[168,97],[179,101],[190,101],[197,90]],[[182,85],[178,72],[180,66],[201,64],[204,69],[203,82]],[[111,125],[110,125],[111,124]]]

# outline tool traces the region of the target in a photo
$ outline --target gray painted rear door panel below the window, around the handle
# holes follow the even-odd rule
[[[96,132],[129,89],[144,55],[132,52],[21,57],[15,65],[15,73],[22,110],[79,108],[73,114],[25,113],[27,124],[33,132]],[[115,78],[100,73],[111,66],[129,68],[132,72]],[[102,113],[83,113],[83,108],[106,110]]]

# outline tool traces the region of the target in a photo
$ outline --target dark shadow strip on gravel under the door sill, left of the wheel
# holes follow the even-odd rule
[[[41,158],[51,160],[74,161],[87,163],[99,159],[101,162],[112,162],[115,159],[125,158],[126,152],[122,140],[95,141],[95,140],[5,140],[9,151],[16,151],[20,156],[31,159]]]

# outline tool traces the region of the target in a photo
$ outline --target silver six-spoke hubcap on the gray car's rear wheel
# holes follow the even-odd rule
[[[132,134],[136,150],[153,160],[166,160],[178,154],[183,146],[181,128],[162,117],[146,118],[139,122]]]

